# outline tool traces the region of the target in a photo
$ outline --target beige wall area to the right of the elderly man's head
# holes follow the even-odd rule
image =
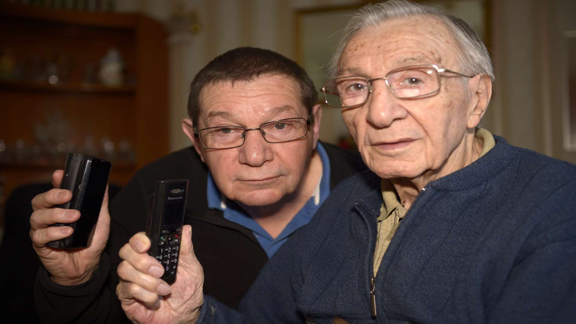
[[[562,32],[576,1],[492,0],[496,84],[484,125],[511,144],[576,163],[562,145]]]

